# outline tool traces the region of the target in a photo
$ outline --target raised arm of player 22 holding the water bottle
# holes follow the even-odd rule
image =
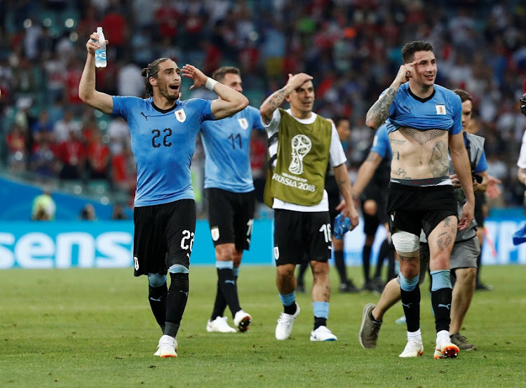
[[[79,83],[79,98],[90,107],[100,110],[102,113],[110,114],[113,110],[112,96],[95,90],[95,48],[100,46],[98,41],[99,35],[93,32],[86,42],[88,56]],[[108,44],[107,40],[106,44]]]

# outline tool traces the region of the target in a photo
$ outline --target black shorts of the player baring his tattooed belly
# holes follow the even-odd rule
[[[446,217],[457,218],[457,196],[451,185],[406,186],[389,182],[386,212],[391,233],[396,229],[426,237]]]

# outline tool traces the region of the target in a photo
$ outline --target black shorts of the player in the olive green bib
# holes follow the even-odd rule
[[[274,209],[276,265],[326,262],[332,249],[329,213]]]

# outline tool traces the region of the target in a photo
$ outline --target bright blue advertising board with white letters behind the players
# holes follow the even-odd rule
[[[360,220],[360,225],[363,222]],[[483,248],[485,265],[526,264],[526,244],[513,246],[511,235],[522,218],[488,218]],[[272,220],[255,220],[252,245],[244,265],[273,265]],[[376,261],[385,231],[380,228],[372,250]],[[361,227],[345,235],[347,265],[361,265],[365,235]],[[192,265],[213,265],[215,254],[208,222],[198,220]],[[0,269],[133,267],[132,221],[0,222]]]

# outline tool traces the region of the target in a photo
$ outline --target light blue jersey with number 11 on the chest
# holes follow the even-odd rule
[[[259,110],[246,107],[234,116],[201,124],[205,148],[205,189],[211,187],[235,193],[254,189],[250,168],[252,129],[264,131]]]

